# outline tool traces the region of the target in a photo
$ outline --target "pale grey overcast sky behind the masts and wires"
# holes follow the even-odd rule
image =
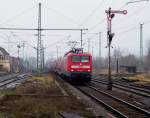
[[[116,14],[113,19],[115,38],[112,46],[120,48],[123,53],[139,55],[140,23],[143,25],[143,45],[146,53],[150,39],[150,2],[126,4],[133,0],[0,0],[0,27],[37,28],[38,3],[42,3],[42,28],[87,28],[83,35],[84,48],[87,50],[87,39],[91,39],[91,52],[98,56],[98,40],[96,34],[102,32],[102,56],[106,56],[106,14],[105,10],[127,10],[127,15]],[[11,42],[26,41],[25,56],[36,56],[36,31],[4,31],[0,30],[0,46],[16,56],[17,48]],[[46,49],[46,58],[56,57],[56,45],[59,56],[69,47],[68,41],[80,41],[79,31],[43,31],[42,37]],[[30,45],[30,46],[29,46]],[[22,49],[21,49],[22,50]],[[22,54],[22,52],[21,52]],[[20,54],[20,55],[21,55]],[[21,55],[22,56],[22,55]]]

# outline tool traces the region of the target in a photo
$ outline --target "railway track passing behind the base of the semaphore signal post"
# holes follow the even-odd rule
[[[93,79],[92,82],[105,84],[105,85],[108,84],[106,79],[105,80],[104,79]],[[123,91],[134,93],[134,94],[139,95],[139,96],[150,98],[150,91],[148,89],[143,89],[143,88],[139,88],[139,87],[135,87],[135,86],[125,85],[125,84],[121,84],[121,83],[118,83],[115,81],[113,81],[113,87],[117,88],[117,89],[121,89]]]

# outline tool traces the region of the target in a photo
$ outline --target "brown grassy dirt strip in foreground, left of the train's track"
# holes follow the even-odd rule
[[[61,118],[64,112],[94,118],[88,108],[53,75],[32,77],[14,90],[0,91],[0,118]]]

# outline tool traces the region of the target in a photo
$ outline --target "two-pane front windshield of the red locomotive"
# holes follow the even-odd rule
[[[72,56],[72,62],[89,62],[89,56]]]

